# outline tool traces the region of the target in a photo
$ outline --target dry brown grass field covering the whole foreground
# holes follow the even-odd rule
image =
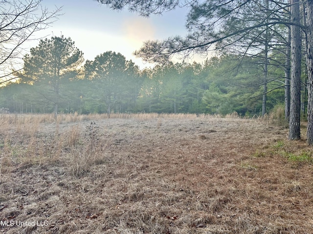
[[[270,119],[0,115],[0,233],[312,234],[313,149]]]

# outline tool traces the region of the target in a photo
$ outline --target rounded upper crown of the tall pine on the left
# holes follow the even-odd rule
[[[83,62],[83,53],[70,38],[42,39],[39,45],[24,56],[22,82],[36,81],[58,85],[62,79],[75,78],[77,67]]]

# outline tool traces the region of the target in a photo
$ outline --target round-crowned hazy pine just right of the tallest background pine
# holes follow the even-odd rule
[[[121,111],[122,105],[135,102],[140,88],[138,68],[120,53],[108,51],[93,61],[87,60],[84,70],[92,92],[100,94],[96,100],[104,101],[109,115],[112,110]]]

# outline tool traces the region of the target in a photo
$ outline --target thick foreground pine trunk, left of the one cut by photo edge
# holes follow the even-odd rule
[[[291,0],[291,22],[300,24],[300,7],[298,0]],[[301,107],[301,37],[300,27],[291,25],[291,80],[290,80],[290,121],[289,139],[300,139]]]

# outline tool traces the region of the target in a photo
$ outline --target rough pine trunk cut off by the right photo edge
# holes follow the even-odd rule
[[[313,145],[313,0],[307,0],[307,37],[308,37],[308,128],[307,143]]]

